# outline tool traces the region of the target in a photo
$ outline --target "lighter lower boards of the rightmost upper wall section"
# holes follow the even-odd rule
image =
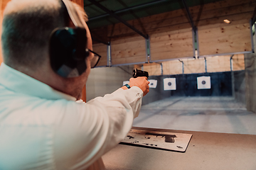
[[[199,55],[251,51],[249,23],[198,30]]]

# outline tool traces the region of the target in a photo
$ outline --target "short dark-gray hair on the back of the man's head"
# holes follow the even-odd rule
[[[68,22],[68,11],[60,0],[10,1],[2,23],[4,62],[37,67],[46,60],[50,33]]]

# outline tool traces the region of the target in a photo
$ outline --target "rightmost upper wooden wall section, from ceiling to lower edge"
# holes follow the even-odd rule
[[[218,1],[203,6],[198,20],[199,55],[252,51],[250,18],[256,1]],[[196,16],[196,13],[193,14]],[[224,23],[228,19],[230,24]]]

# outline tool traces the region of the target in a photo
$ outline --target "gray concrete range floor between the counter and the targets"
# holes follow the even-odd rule
[[[256,135],[256,113],[232,97],[171,97],[142,106],[133,126]]]

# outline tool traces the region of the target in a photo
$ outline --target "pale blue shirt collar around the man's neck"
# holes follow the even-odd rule
[[[0,67],[0,84],[6,89],[15,91],[16,93],[37,96],[51,100],[63,99],[68,101],[76,101],[76,98],[56,91],[47,84],[42,83],[22,72],[18,72],[6,64],[2,63]]]

